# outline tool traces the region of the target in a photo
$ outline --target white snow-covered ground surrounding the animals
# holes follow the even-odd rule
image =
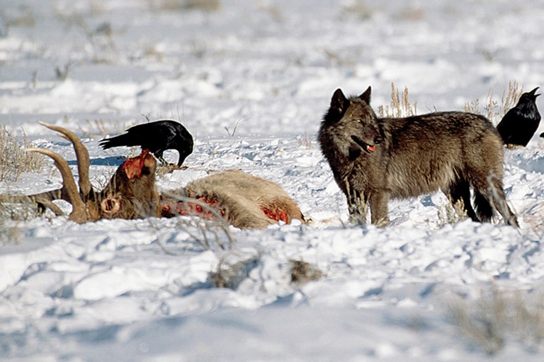
[[[98,139],[143,116],[179,119],[196,149],[187,170],[159,177],[162,189],[239,168],[278,182],[313,222],[231,228],[234,241],[220,230],[207,247],[185,219],[3,221],[0,359],[542,361],[544,141],[506,151],[520,230],[447,223],[442,194],[391,202],[390,226],[362,228],[346,223],[315,134],[339,87],[372,86],[378,107],[395,83],[419,113],[476,100],[487,113],[490,89],[501,103],[509,81],[544,86],[544,2],[202,9],[214,3],[0,0],[0,122],[71,165],[69,143],[37,121],[74,130],[99,185],[131,150],[103,151]],[[0,193],[58,185],[51,165],[0,182]],[[322,276],[293,283],[293,260]],[[218,270],[230,288],[215,288]],[[521,326],[511,304],[526,307]]]

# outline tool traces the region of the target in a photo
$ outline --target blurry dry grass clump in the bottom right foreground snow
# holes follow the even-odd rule
[[[492,286],[482,288],[475,300],[449,300],[447,316],[463,337],[486,354],[497,354],[511,340],[536,351],[544,340],[543,306],[542,295]]]

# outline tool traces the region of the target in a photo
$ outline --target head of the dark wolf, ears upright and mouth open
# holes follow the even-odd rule
[[[345,156],[353,156],[353,151],[358,154],[361,150],[373,153],[375,145],[382,141],[376,115],[370,107],[370,91],[368,87],[358,97],[346,98],[341,89],[337,89],[332,95],[322,129],[328,129],[332,136],[330,141]]]

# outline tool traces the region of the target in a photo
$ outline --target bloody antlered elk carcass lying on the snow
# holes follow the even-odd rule
[[[60,215],[62,211],[52,201],[64,199],[73,206],[69,219],[78,223],[102,218],[188,214],[225,218],[237,228],[266,228],[272,223],[290,223],[293,219],[305,221],[296,202],[278,184],[239,170],[227,170],[195,180],[176,196],[172,196],[172,192],[159,195],[155,182],[157,161],[147,149],[140,156],[125,160],[108,185],[96,192],[89,180],[89,152],[79,137],[62,127],[40,124],[59,132],[74,145],[79,190],[64,158],[49,150],[31,148],[28,151],[42,153],[55,161],[64,185],[60,189],[27,197],[0,197],[0,201],[30,199]]]

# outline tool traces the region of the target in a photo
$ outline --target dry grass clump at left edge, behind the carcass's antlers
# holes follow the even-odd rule
[[[22,173],[40,173],[47,165],[45,158],[34,152],[26,152],[30,141],[23,134],[19,143],[6,126],[0,127],[0,181],[17,181]]]

